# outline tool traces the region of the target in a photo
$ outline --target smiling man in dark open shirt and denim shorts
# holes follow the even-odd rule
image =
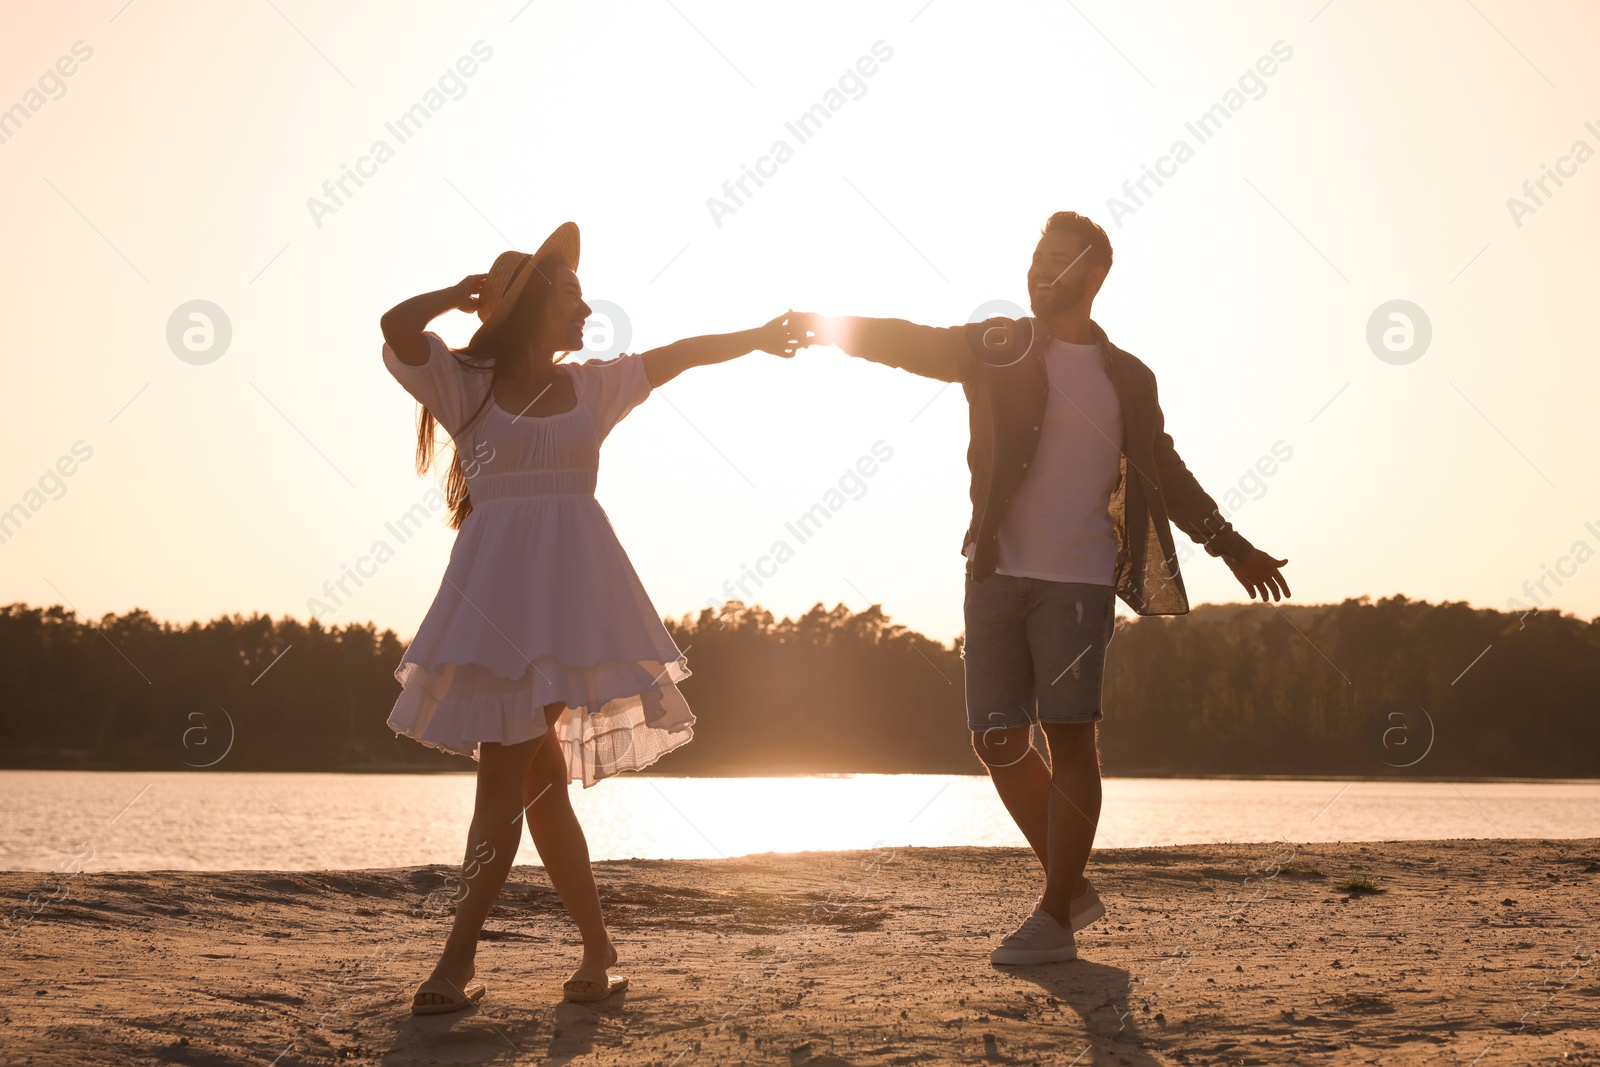
[[[942,330],[795,320],[811,344],[962,382],[966,394],[966,718],[1045,867],[1043,896],[994,963],[1074,960],[1074,931],[1106,913],[1083,877],[1101,809],[1106,645],[1115,597],[1139,614],[1189,611],[1168,523],[1221,557],[1251,598],[1290,592],[1278,569],[1288,560],[1245,541],[1178,456],[1150,368],[1090,318],[1110,262],[1106,232],[1059,211],[1027,272],[1032,318]],[[1032,745],[1035,721],[1048,765]]]

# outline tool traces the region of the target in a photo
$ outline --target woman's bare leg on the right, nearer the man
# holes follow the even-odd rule
[[[584,939],[584,969],[605,971],[616,966],[616,949],[605,928],[600,913],[600,889],[595,886],[594,867],[589,865],[589,841],[584,829],[578,822],[568,798],[566,757],[560,742],[555,741],[555,720],[560,718],[565,705],[550,704],[544,709],[549,731],[549,742],[539,749],[533,765],[523,779],[523,805],[526,806],[528,837],[539,849],[539,859],[550,877],[550,885],[560,894],[566,913],[578,925],[578,933]],[[579,982],[603,985],[595,982]]]

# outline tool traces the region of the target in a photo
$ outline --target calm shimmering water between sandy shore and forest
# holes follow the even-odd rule
[[[472,785],[470,774],[0,771],[0,869],[459,864]],[[571,797],[595,859],[1024,845],[976,776],[624,776]],[[1462,837],[1600,837],[1600,782],[1114,777],[1096,843]],[[538,862],[526,843],[518,857]]]

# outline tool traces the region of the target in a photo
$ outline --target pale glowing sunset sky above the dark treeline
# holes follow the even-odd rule
[[[1077,210],[1115,250],[1096,320],[1296,600],[1597,616],[1597,32],[1507,0],[11,6],[0,603],[304,619],[386,542],[323,621],[410,637],[453,533],[387,526],[432,485],[390,306],[573,219],[594,355],[786,309],[955,325],[1026,304]],[[878,603],[950,640],[965,451],[958,389],[755,354],[637,408],[598,498],[662,614]]]

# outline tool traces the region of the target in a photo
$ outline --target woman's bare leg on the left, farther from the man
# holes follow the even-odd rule
[[[461,865],[461,886],[451,894],[456,899],[456,921],[430,976],[454,985],[458,995],[472,981],[483,920],[517,857],[522,840],[522,787],[534,755],[546,747],[542,742],[544,737],[534,737],[514,745],[478,745],[478,789],[472,827],[467,830],[467,857]],[[445,1003],[445,998],[418,993],[414,1001]]]

